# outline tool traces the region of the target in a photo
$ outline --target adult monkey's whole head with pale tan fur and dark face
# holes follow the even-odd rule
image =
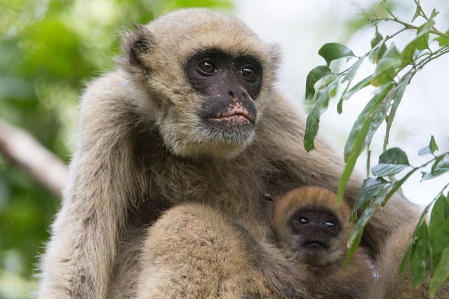
[[[137,25],[121,66],[147,90],[135,105],[175,155],[233,158],[272,100],[276,50],[239,19],[195,8]]]

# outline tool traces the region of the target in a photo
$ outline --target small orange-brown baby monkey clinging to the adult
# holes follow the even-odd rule
[[[316,186],[290,190],[274,204],[277,241],[311,298],[364,298],[373,283],[375,266],[363,248],[343,268],[350,213],[335,193]]]

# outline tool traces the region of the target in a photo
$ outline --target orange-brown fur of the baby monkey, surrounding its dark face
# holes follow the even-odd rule
[[[301,253],[297,251],[300,249],[290,248],[288,243],[288,239],[294,237],[288,228],[288,221],[302,207],[330,209],[342,225],[340,235],[333,239],[328,249],[332,252],[323,257],[326,261],[323,265],[305,263],[299,258]],[[346,243],[353,226],[347,222],[350,214],[348,204],[337,205],[335,193],[316,186],[295,188],[276,201],[272,216],[276,239],[312,298],[363,298],[373,284],[371,267],[374,263],[366,249],[358,248],[347,269],[343,268]]]

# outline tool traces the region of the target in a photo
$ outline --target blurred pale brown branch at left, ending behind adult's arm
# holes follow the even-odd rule
[[[0,119],[0,154],[24,169],[36,181],[60,195],[67,183],[67,168],[27,131]]]

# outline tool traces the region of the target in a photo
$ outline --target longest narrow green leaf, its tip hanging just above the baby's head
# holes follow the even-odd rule
[[[346,165],[344,166],[342,177],[337,188],[337,202],[339,203],[343,200],[344,189],[354,170],[358,156],[363,151],[363,148],[370,143],[374,132],[385,118],[389,107],[387,105],[388,101],[384,102],[384,98],[392,86],[393,84],[390,83],[379,88],[373,99],[368,102],[365,109],[360,113],[352,127],[351,133],[349,133],[346,145],[344,146],[344,160],[346,161]]]

